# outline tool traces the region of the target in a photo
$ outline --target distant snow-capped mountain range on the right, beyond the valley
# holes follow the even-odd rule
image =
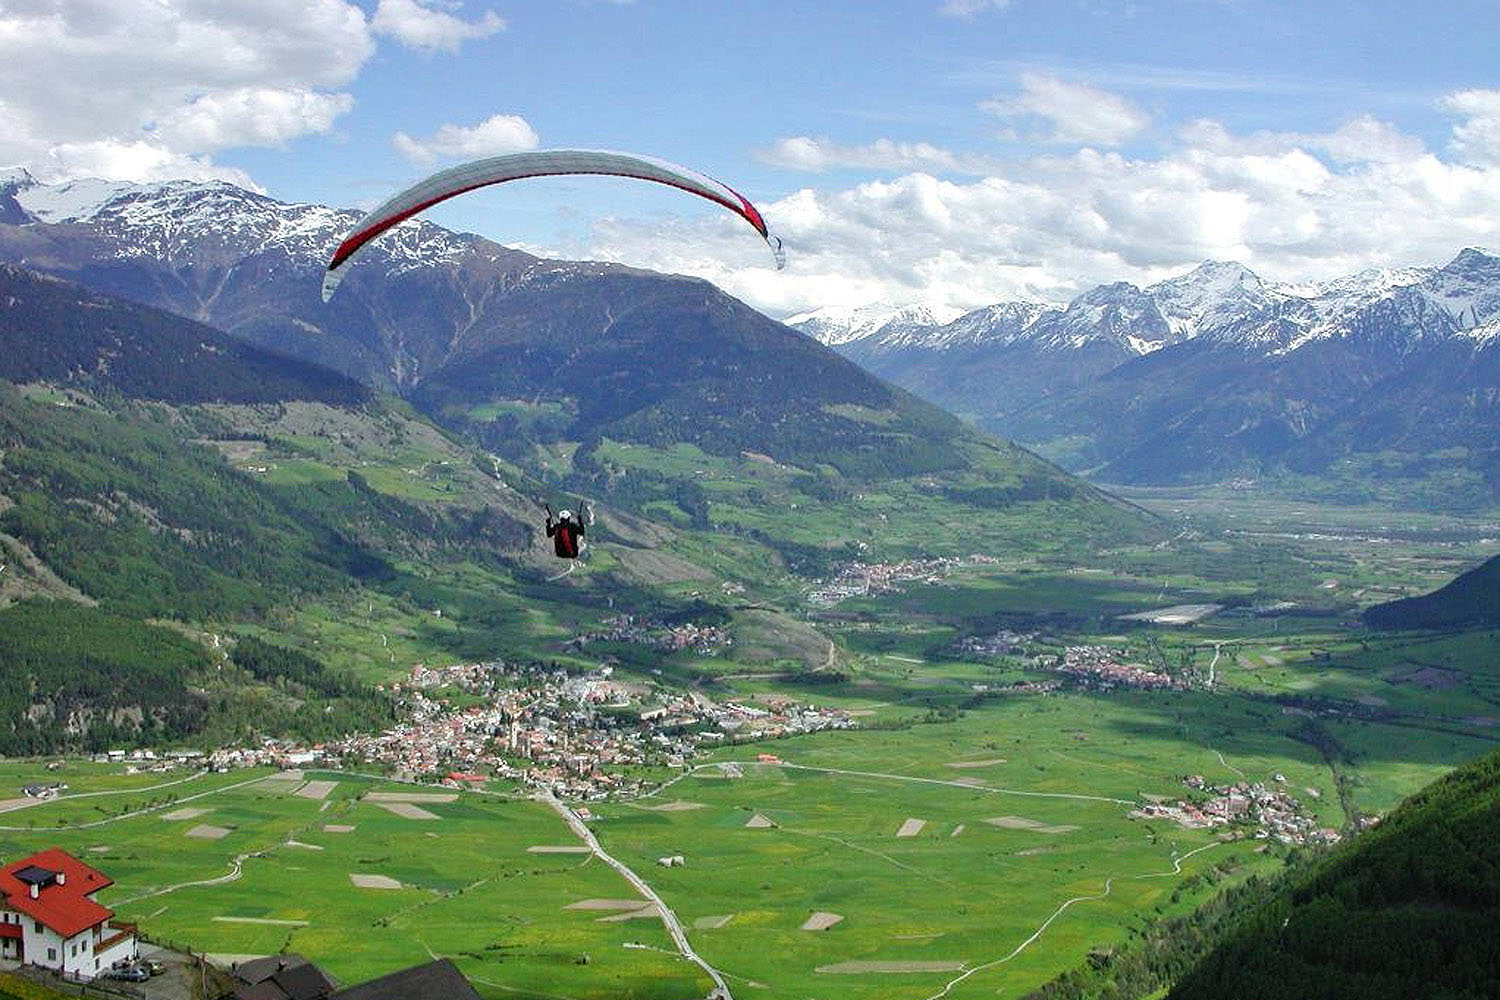
[[[1470,448],[1500,499],[1500,256],[1479,249],[1296,285],[1209,261],[1062,309],[1002,303],[838,351],[1108,480],[1374,466],[1350,456],[1422,441]]]

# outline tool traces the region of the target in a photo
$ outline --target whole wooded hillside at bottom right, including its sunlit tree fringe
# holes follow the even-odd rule
[[[1120,948],[1026,1000],[1388,1000],[1496,996],[1500,751],[1418,792],[1377,828],[1196,910],[1148,918]],[[1202,886],[1204,876],[1190,885]]]

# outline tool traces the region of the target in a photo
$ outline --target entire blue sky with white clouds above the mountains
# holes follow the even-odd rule
[[[468,156],[654,153],[434,219],[774,315],[964,309],[1216,256],[1280,280],[1500,243],[1492,0],[8,0],[0,159],[369,205]]]

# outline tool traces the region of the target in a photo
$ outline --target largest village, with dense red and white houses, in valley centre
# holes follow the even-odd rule
[[[648,780],[630,774],[634,768],[684,768],[704,748],[726,742],[855,727],[842,709],[784,697],[765,706],[716,703],[696,691],[621,682],[608,666],[582,675],[500,661],[417,666],[390,691],[405,706],[406,721],[382,733],[312,747],[264,739],[216,750],[207,763],[214,769],[375,766],[404,780],[483,786],[500,778],[598,801],[644,792]],[[471,703],[454,708],[448,696]]]

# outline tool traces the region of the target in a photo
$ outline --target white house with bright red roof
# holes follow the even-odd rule
[[[114,882],[52,847],[0,868],[0,958],[92,979],[136,957],[135,925],[94,897]]]

